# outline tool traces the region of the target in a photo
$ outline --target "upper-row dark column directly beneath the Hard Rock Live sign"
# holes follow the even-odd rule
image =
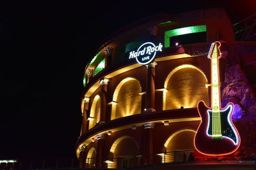
[[[157,62],[151,62],[147,64],[147,86],[146,86],[146,100],[145,110],[146,112],[155,110],[155,76],[156,76]]]

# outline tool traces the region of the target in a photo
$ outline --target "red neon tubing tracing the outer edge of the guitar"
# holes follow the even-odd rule
[[[219,85],[220,85],[220,69],[219,69],[219,62],[218,62],[218,60],[220,59],[220,57],[221,57],[221,51],[220,51],[220,46],[221,46],[221,43],[220,43],[220,41],[215,41],[214,43],[219,43],[220,45],[218,46],[217,45],[217,48],[218,48],[218,50],[219,50],[219,52],[220,52],[220,55],[217,57],[217,66],[218,66],[218,83],[219,83]],[[210,49],[211,50],[211,49]],[[211,53],[212,53],[212,50],[210,51]],[[208,54],[209,55],[209,54]],[[207,55],[207,56],[208,56]],[[211,62],[212,62],[212,57],[211,57]],[[212,76],[212,64],[211,64],[211,76]],[[212,82],[211,82],[212,83]],[[212,85],[211,85],[211,97],[212,97]],[[220,87],[219,87],[219,97],[220,97]],[[202,101],[203,103],[204,103],[204,106],[206,106],[205,105],[205,102],[204,101]],[[219,100],[219,102],[220,102],[220,106],[221,106],[221,98],[220,98],[220,100]],[[201,116],[201,114],[200,114],[200,111],[198,110],[198,104],[200,103],[200,101],[197,103],[197,111],[198,111],[198,114],[200,115],[200,117],[201,117],[201,122],[200,122],[200,124],[198,125],[198,128],[196,129],[196,134],[197,134],[197,131],[198,131],[198,129],[199,129],[199,127],[200,127],[200,125],[202,124],[202,116]],[[212,100],[211,100],[211,104],[212,104]],[[236,147],[236,149],[234,149],[232,152],[228,152],[228,153],[221,153],[221,154],[211,154],[211,153],[204,153],[204,152],[201,152],[200,150],[198,150],[198,148],[196,148],[196,145],[195,145],[195,137],[196,137],[196,135],[195,135],[195,137],[194,137],[194,146],[195,146],[195,148],[196,148],[196,150],[199,152],[199,153],[201,153],[201,154],[203,154],[203,155],[207,155],[207,156],[223,156],[223,155],[230,155],[230,154],[232,154],[232,153],[234,153],[234,152],[236,152],[236,150],[239,148],[239,146],[240,146],[240,144],[241,144],[241,138],[240,138],[240,134],[239,134],[239,132],[237,131],[237,129],[236,129],[236,126],[233,124],[233,122],[232,122],[232,115],[233,115],[233,111],[234,111],[234,104],[233,103],[228,103],[228,104],[232,104],[232,113],[230,114],[230,117],[229,117],[229,119],[230,119],[230,123],[233,125],[233,127],[235,128],[235,130],[236,130],[236,133],[237,133],[237,136],[238,136],[238,138],[239,138],[239,142],[237,143],[237,147]],[[227,104],[227,106],[228,106],[228,104]],[[225,108],[220,108],[220,110],[225,110],[226,108],[227,108],[227,106],[225,107]],[[206,106],[207,107],[207,106]],[[207,108],[209,108],[209,107],[207,107]],[[212,110],[212,108],[209,108],[209,110]],[[209,121],[209,120],[208,120]],[[208,124],[208,126],[209,126],[209,122],[207,122],[207,124]],[[206,134],[207,135],[207,134]]]

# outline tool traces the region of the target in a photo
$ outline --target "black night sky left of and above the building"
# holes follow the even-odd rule
[[[83,70],[111,33],[151,15],[214,7],[237,22],[255,13],[251,2],[1,2],[0,159],[75,157]]]

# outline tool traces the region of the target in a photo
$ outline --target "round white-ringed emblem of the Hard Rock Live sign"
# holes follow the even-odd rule
[[[140,64],[148,64],[154,60],[156,52],[156,45],[150,42],[144,43],[137,50],[138,56],[136,57],[136,60]]]

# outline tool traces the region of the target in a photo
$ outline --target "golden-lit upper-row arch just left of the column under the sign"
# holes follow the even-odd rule
[[[141,86],[135,78],[125,78],[113,94],[111,120],[141,112]]]

